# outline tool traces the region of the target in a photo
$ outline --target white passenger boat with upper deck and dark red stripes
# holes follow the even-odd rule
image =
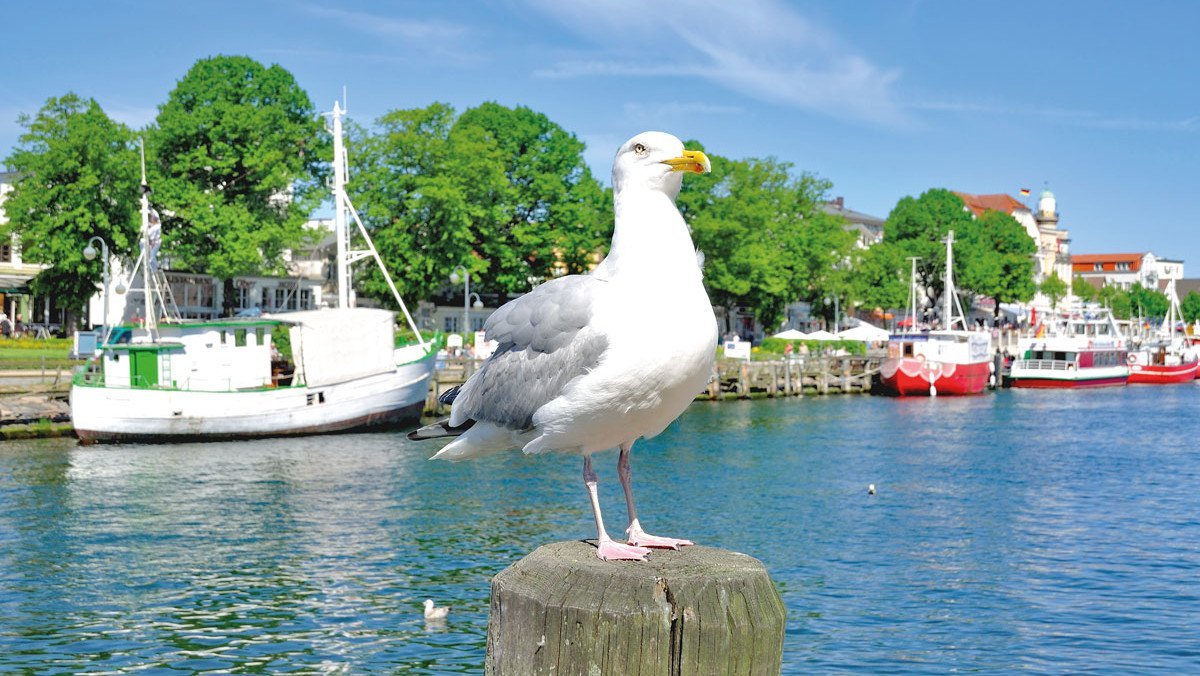
[[[1014,388],[1094,388],[1129,379],[1128,345],[1106,310],[1055,321],[1021,339],[1010,377]]]

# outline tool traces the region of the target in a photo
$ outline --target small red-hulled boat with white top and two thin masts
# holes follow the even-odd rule
[[[980,394],[992,378],[991,336],[966,330],[962,307],[954,293],[952,267],[954,232],[946,239],[946,293],[942,317],[947,329],[916,333],[917,261],[912,262],[908,292],[910,333],[888,341],[888,357],[880,365],[884,389],[899,396]],[[958,306],[958,315],[954,307]],[[955,329],[955,324],[962,329]]]

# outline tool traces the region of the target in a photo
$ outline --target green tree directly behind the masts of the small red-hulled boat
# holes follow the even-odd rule
[[[942,295],[946,273],[946,244],[949,231],[955,238],[965,239],[965,233],[973,227],[971,213],[964,208],[962,199],[944,189],[926,190],[920,197],[905,197],[896,203],[883,225],[883,243],[900,250],[899,258],[919,256],[917,262],[917,283],[936,300]],[[954,276],[956,279],[986,277],[965,270],[967,263],[955,256]],[[982,257],[967,257],[967,262],[984,262]],[[998,275],[998,267],[991,273]]]

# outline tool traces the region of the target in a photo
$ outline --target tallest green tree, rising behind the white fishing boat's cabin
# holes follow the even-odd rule
[[[283,270],[324,196],[329,144],[292,73],[246,56],[197,61],[160,107],[150,150],[163,249],[224,280]]]

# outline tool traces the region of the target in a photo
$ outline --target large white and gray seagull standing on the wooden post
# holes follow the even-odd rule
[[[676,208],[685,173],[712,171],[698,150],[662,132],[625,142],[612,167],[616,227],[608,256],[587,275],[550,280],[484,325],[496,352],[440,400],[450,418],[413,439],[456,436],[433,457],[466,460],[511,449],[583,457],[596,556],[646,561],[649,548],[692,544],[650,536],[634,507],[634,442],[662,432],[708,383],[716,318],[702,257]],[[628,544],[605,531],[592,454],[619,448]]]

